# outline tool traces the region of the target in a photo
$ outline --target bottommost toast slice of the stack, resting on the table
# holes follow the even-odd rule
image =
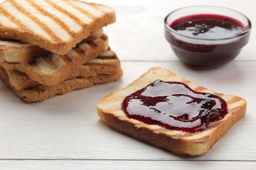
[[[24,102],[40,102],[54,95],[63,95],[76,89],[88,88],[96,84],[110,83],[120,79],[123,75],[122,69],[113,74],[97,74],[91,77],[77,77],[74,79],[65,80],[56,85],[36,85],[31,88],[17,90],[9,82],[9,77],[5,73],[4,68],[0,66],[0,78],[9,85],[14,93]]]

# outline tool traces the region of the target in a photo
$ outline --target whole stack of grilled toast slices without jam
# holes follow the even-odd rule
[[[6,0],[0,4],[0,78],[23,101],[122,77],[103,27],[115,11],[78,0]]]

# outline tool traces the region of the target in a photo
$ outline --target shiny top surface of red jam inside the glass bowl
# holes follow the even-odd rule
[[[230,38],[245,31],[245,26],[238,20],[213,14],[179,18],[170,27],[182,35],[199,39]]]

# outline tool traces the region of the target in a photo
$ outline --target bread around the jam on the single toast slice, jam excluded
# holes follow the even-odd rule
[[[157,79],[166,82],[182,82],[194,91],[218,95],[227,102],[228,113],[223,119],[211,122],[207,129],[198,132],[170,130],[159,125],[146,124],[142,121],[128,118],[121,108],[125,97],[146,87]],[[97,112],[106,124],[135,139],[146,141],[153,146],[166,148],[178,154],[202,155],[208,152],[236,121],[245,116],[246,106],[247,102],[241,97],[216,93],[185,80],[164,68],[154,67],[126,88],[114,91],[103,97],[97,103]]]

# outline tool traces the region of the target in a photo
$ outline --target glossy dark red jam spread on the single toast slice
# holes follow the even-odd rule
[[[122,103],[127,117],[171,130],[197,132],[227,114],[226,102],[210,93],[198,93],[180,82],[156,80],[127,96]]]

